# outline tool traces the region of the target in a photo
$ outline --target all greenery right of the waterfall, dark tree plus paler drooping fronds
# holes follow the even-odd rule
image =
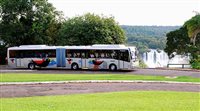
[[[167,33],[165,51],[170,58],[176,54],[189,55],[192,68],[200,69],[200,14],[186,21],[181,28]]]

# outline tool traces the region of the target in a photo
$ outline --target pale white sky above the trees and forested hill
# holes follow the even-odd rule
[[[183,25],[200,12],[200,0],[49,0],[64,16],[114,16],[120,25]]]

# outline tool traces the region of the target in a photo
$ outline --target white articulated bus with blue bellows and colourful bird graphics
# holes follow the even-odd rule
[[[125,45],[47,46],[21,45],[7,50],[12,68],[66,68],[131,70],[137,61],[136,47]]]

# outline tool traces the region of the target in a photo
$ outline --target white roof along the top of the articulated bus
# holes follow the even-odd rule
[[[104,50],[111,50],[111,49],[128,49],[125,45],[122,44],[95,44],[90,46],[47,46],[47,45],[21,45],[17,47],[10,47],[8,50],[40,50],[40,49],[57,49],[57,48],[66,48],[66,49],[104,49]]]

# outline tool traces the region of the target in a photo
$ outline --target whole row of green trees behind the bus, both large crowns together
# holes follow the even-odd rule
[[[11,46],[123,44],[125,40],[112,16],[87,13],[66,19],[48,0],[0,0],[1,60]]]

